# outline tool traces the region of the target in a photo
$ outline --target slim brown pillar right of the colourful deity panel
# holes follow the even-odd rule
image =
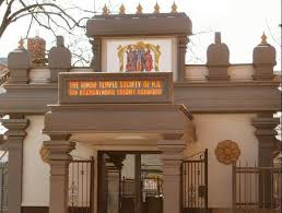
[[[189,43],[189,38],[187,35],[178,36],[178,49],[177,49],[177,79],[176,81],[183,82],[185,81],[185,58],[187,51],[187,44]]]

